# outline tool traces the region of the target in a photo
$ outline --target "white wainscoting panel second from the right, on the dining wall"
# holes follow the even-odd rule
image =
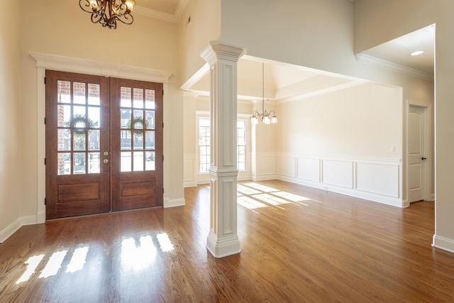
[[[323,184],[353,188],[353,160],[322,159]]]

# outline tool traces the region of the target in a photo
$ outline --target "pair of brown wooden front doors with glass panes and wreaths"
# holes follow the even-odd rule
[[[162,84],[46,71],[46,219],[162,206]]]

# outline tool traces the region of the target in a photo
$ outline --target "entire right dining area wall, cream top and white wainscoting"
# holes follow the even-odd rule
[[[401,89],[377,84],[282,103],[277,177],[406,206],[402,108]]]

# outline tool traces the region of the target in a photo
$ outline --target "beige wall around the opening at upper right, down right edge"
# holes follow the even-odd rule
[[[454,251],[454,1],[361,0],[355,9],[355,50],[436,23],[436,246]],[[385,22],[384,22],[385,21]]]

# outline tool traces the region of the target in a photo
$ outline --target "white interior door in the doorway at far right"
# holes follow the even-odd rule
[[[409,110],[409,202],[421,201],[425,194],[427,155],[425,144],[425,107],[410,106]]]

